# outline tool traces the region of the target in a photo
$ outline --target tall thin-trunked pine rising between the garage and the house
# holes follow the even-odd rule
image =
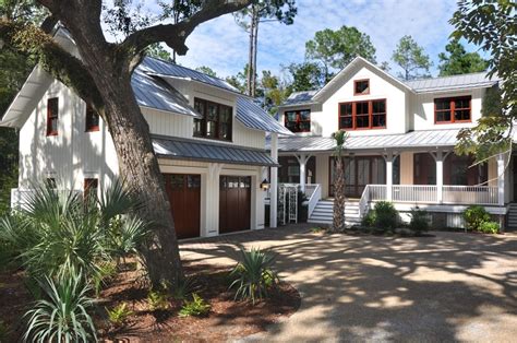
[[[256,93],[256,51],[258,46],[258,24],[278,21],[290,25],[297,15],[294,0],[255,0],[250,7],[235,13],[236,22],[250,34],[247,93],[255,97]]]

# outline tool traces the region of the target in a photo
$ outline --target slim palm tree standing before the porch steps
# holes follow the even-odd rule
[[[345,170],[342,166],[342,151],[348,133],[346,131],[336,131],[332,134],[336,141],[336,150],[334,151],[334,161],[336,169],[334,173],[334,220],[333,232],[345,230]]]

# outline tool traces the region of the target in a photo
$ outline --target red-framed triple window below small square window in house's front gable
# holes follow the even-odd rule
[[[386,99],[339,104],[340,130],[386,128]]]

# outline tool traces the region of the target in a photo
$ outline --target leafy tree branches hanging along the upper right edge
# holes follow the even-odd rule
[[[450,23],[454,38],[466,38],[491,56],[489,75],[502,79],[483,102],[483,116],[472,129],[458,133],[457,153],[472,154],[478,162],[512,151],[517,119],[517,3],[515,1],[461,0]]]

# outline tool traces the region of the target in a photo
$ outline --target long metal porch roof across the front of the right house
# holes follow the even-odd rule
[[[459,129],[411,131],[400,134],[354,135],[345,143],[346,150],[383,150],[454,146]],[[267,143],[269,145],[269,142]],[[279,152],[324,152],[336,146],[329,137],[279,138]],[[267,146],[269,149],[269,146]]]

